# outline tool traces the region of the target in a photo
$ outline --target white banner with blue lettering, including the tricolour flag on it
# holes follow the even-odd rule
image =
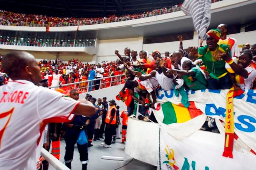
[[[226,96],[228,91],[229,90],[208,89],[187,91],[190,106],[188,108],[184,107],[183,110],[180,109],[178,111],[176,107],[182,107],[182,96],[176,97],[173,90],[159,90],[157,92],[157,101],[160,103],[161,107],[158,111],[154,111],[154,115],[158,123],[167,131],[167,133],[178,140],[185,139],[200,129],[206,120],[206,116],[218,120],[218,129],[224,137],[224,133],[222,131],[224,126],[223,124],[219,123],[219,120],[225,122],[226,119]],[[234,98],[233,104],[235,137],[239,138],[240,143],[243,144],[241,147],[247,147],[246,150],[250,148],[250,152],[255,153],[256,90],[245,90],[244,94]],[[192,107],[194,111],[194,117],[190,113],[190,107]],[[174,110],[176,119],[174,113],[172,113],[172,110]],[[172,118],[170,118],[170,115],[172,115]],[[179,117],[182,116],[186,118],[183,117],[183,120],[180,119]],[[179,122],[178,120],[182,121]],[[221,147],[223,147],[223,143],[224,139]],[[237,143],[237,140],[235,143]]]

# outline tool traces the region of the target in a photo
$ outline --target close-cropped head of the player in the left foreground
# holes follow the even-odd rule
[[[12,80],[28,80],[34,84],[42,80],[34,56],[24,51],[13,51],[4,55],[2,69]]]

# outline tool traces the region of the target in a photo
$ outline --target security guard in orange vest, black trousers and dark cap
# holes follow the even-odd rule
[[[111,142],[112,142],[112,135],[114,135],[116,131],[116,102],[114,100],[108,101],[110,108],[108,109],[105,123],[106,123],[106,129],[105,129],[105,143],[101,143],[103,147],[111,148]]]

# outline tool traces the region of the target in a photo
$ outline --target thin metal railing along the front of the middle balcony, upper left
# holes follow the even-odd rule
[[[30,44],[30,43],[15,43],[15,42],[0,42],[0,45],[18,45],[18,46],[31,46],[31,47],[95,47],[95,44]]]

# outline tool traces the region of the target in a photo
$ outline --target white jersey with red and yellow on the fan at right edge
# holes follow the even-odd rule
[[[243,78],[242,76],[239,76],[236,74],[236,84],[242,89],[252,89],[253,82],[256,78],[256,70],[249,65],[245,68],[245,70],[248,72],[248,77]]]

